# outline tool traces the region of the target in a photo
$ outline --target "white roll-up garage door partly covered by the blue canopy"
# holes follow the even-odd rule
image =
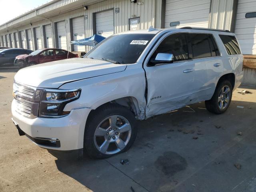
[[[84,17],[77,17],[72,19],[73,25],[73,40],[80,40],[85,38],[84,32]],[[85,46],[74,45],[74,51],[85,51]]]

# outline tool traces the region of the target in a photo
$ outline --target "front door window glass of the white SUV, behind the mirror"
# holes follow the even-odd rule
[[[156,58],[158,53],[173,54],[174,61],[187,60],[188,59],[188,44],[185,33],[172,34],[166,37],[156,48],[152,59]]]

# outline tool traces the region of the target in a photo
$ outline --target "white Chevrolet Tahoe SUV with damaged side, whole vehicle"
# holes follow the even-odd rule
[[[235,34],[204,28],[114,34],[88,52],[14,77],[20,135],[51,150],[107,158],[130,148],[136,120],[205,101],[224,113],[243,77]]]

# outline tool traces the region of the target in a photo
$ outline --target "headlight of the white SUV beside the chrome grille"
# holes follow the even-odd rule
[[[80,96],[81,89],[60,90],[44,89],[40,102],[40,117],[63,117],[70,111],[63,111],[67,103],[77,100]]]

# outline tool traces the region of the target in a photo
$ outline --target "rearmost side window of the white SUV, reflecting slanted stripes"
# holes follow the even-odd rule
[[[241,54],[238,42],[235,36],[219,35],[229,55]]]

